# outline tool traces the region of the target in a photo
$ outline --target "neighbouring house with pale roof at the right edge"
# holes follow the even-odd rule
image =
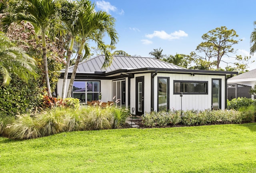
[[[256,83],[256,69],[228,79],[228,99],[237,97],[251,98],[250,89]]]

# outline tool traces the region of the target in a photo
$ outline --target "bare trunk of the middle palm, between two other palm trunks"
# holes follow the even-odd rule
[[[63,86],[62,86],[62,99],[65,98],[65,94],[66,94],[66,86],[67,86],[67,79],[68,79],[68,68],[69,68],[69,64],[70,64],[70,58],[72,55],[72,50],[73,50],[73,45],[74,45],[74,38],[71,38],[70,41],[70,46],[68,49],[68,57],[67,57],[67,63],[66,63],[66,69],[65,69],[65,73],[64,73],[64,79],[63,79]]]

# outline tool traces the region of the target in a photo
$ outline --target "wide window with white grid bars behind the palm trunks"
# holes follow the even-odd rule
[[[73,98],[80,102],[98,100],[100,95],[100,82],[98,81],[74,81]]]

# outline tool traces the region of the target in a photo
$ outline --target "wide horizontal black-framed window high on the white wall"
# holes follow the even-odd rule
[[[207,81],[174,81],[174,94],[208,94]]]

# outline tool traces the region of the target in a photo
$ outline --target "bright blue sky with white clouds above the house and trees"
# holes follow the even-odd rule
[[[96,10],[116,18],[116,50],[149,57],[153,49],[163,54],[190,54],[201,36],[216,27],[234,29],[243,41],[234,45],[237,55],[249,56],[250,34],[256,20],[255,0],[92,0]],[[109,44],[106,42],[106,44]],[[227,58],[223,59],[228,61]],[[256,54],[251,60],[256,60]],[[229,60],[232,61],[232,60]],[[250,64],[249,70],[256,68]],[[222,68],[226,65],[222,64]]]

